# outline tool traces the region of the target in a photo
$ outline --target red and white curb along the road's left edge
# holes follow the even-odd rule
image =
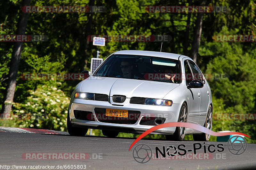
[[[16,132],[16,133],[40,133],[40,134],[57,134],[68,135],[68,132],[61,132],[46,129],[30,129],[30,128],[13,128],[0,126],[0,132]]]

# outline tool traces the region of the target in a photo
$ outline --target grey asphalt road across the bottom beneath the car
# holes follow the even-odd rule
[[[12,168],[15,166],[55,166],[54,169],[60,169],[56,166],[60,165],[86,165],[86,169],[256,169],[256,144],[248,144],[247,150],[242,154],[235,156],[227,149],[227,142],[207,142],[203,144],[202,149],[197,153],[204,152],[204,145],[223,144],[223,152],[212,153],[209,159],[198,160],[199,156],[188,157],[185,159],[150,159],[147,163],[137,163],[132,156],[132,150],[138,144],[147,144],[156,152],[158,147],[163,151],[163,146],[166,148],[170,145],[178,146],[184,144],[186,149],[193,149],[195,141],[172,142],[166,140],[140,140],[135,144],[129,152],[129,147],[134,141],[134,138],[108,138],[108,137],[72,137],[68,134],[38,134],[38,133],[10,133],[0,132],[0,169],[6,169],[8,165]],[[40,159],[24,155],[26,153],[88,153],[89,157],[84,160],[77,159]],[[192,153],[192,152],[189,152]],[[208,153],[208,151],[207,151]],[[87,155],[88,155],[87,154]],[[35,155],[35,154],[34,154]],[[220,158],[222,155],[222,158]],[[96,159],[100,157],[100,159]],[[170,157],[168,157],[170,158]],[[15,167],[14,166],[14,167]],[[18,169],[18,168],[16,168]],[[24,168],[20,168],[24,169]],[[65,169],[65,168],[63,168]],[[68,169],[68,168],[67,168]],[[69,168],[71,169],[71,168]]]

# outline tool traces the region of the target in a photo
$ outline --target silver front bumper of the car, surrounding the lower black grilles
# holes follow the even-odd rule
[[[153,106],[153,105],[140,105],[140,104],[130,104],[130,99],[127,98],[124,103],[121,103],[123,106],[112,105],[108,101],[95,101],[95,100],[83,100],[83,99],[74,99],[69,105],[69,118],[72,126],[76,127],[85,127],[90,129],[105,129],[113,130],[126,133],[143,133],[146,130],[154,127],[148,125],[141,125],[140,121],[143,116],[150,117],[164,117],[166,118],[165,123],[167,122],[177,122],[180,112],[181,104],[172,104],[169,106]],[[116,103],[119,104],[120,103]],[[106,123],[100,122],[97,119],[95,108],[109,108],[109,109],[121,109],[121,110],[130,110],[130,111],[139,111],[140,116],[138,120],[135,121],[135,124],[117,124],[117,123]],[[86,121],[76,119],[74,110],[81,110],[92,112],[95,116],[94,121]],[[154,134],[173,134],[176,127],[168,127],[155,130]]]

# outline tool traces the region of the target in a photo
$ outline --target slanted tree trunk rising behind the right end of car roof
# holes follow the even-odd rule
[[[204,6],[205,4],[206,4],[206,0],[203,0],[200,6]],[[191,48],[191,57],[195,63],[197,60],[198,48],[201,40],[203,18],[204,18],[204,13],[197,13],[195,33],[194,33],[194,38],[193,38],[192,48]]]

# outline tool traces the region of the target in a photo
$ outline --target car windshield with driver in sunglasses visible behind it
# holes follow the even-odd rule
[[[178,60],[142,55],[111,55],[92,76],[181,83],[176,75],[181,75]]]

